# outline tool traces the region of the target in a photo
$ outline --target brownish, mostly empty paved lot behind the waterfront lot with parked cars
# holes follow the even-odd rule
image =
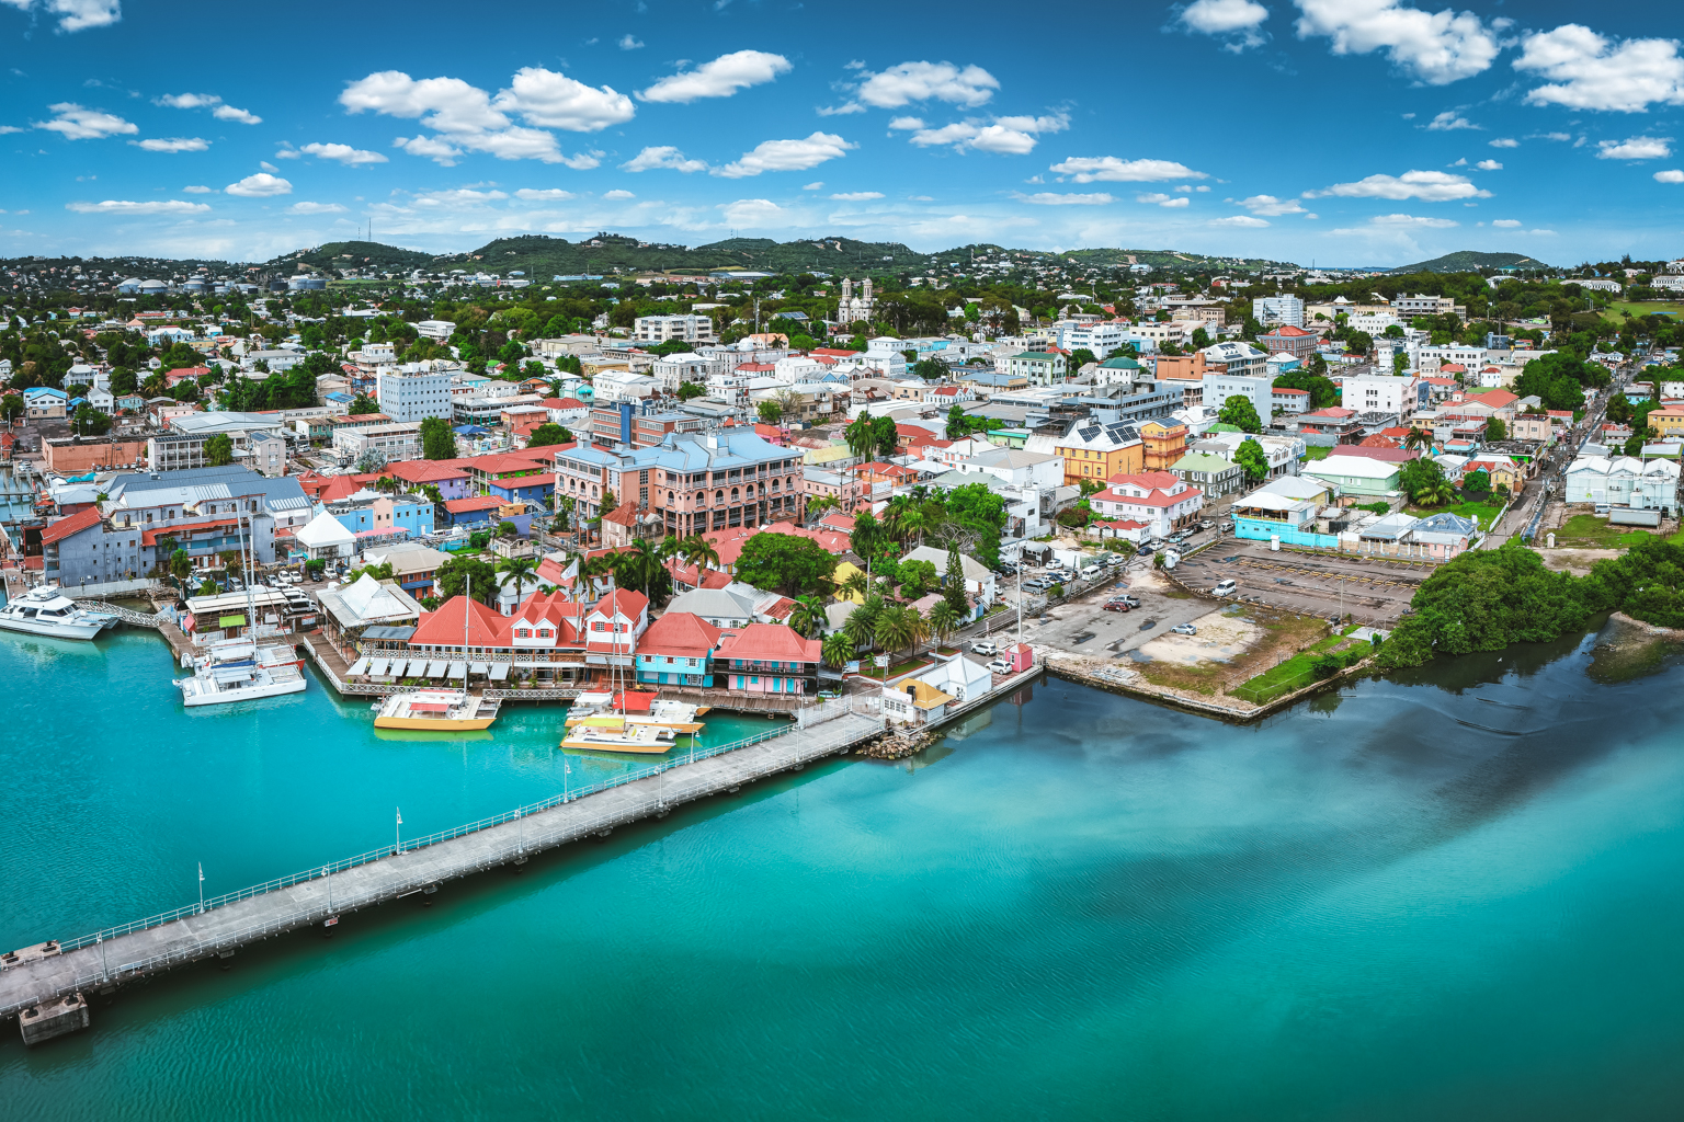
[[[1218,542],[1175,570],[1189,587],[1221,580],[1234,595],[1297,612],[1346,614],[1364,624],[1396,622],[1435,565],[1384,557],[1271,552],[1266,542]]]

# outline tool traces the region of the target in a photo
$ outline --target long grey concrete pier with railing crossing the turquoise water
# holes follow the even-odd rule
[[[876,698],[842,698],[803,712],[788,732],[694,762],[655,765],[650,769],[655,774],[643,779],[406,843],[402,851],[394,846],[377,856],[352,858],[327,875],[269,881],[214,902],[216,907],[204,912],[141,920],[101,932],[98,939],[49,940],[5,955],[0,1016],[22,1018],[27,1043],[86,1028],[86,991],[106,992],[189,962],[226,959],[259,939],[337,924],[360,908],[434,892],[448,880],[520,865],[534,853],[665,816],[684,802],[738,791],[778,772],[800,770],[881,732]]]

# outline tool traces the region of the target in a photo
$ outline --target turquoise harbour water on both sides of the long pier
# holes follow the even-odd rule
[[[1681,671],[1588,643],[1229,728],[1047,683],[0,1041],[12,1119],[1671,1119]],[[559,789],[561,710],[185,715],[157,639],[0,643],[0,942]],[[546,723],[547,722],[547,723]],[[413,905],[413,907],[411,907]]]

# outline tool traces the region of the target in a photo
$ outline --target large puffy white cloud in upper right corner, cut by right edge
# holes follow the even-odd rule
[[[1563,24],[1521,40],[1514,69],[1551,79],[1526,94],[1532,104],[1644,113],[1650,103],[1684,104],[1684,59],[1672,39],[1615,44],[1588,27]]]

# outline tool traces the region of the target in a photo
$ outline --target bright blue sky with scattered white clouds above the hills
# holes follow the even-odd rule
[[[1676,5],[0,0],[0,254],[1679,256]],[[1662,35],[1662,37],[1657,37]]]

